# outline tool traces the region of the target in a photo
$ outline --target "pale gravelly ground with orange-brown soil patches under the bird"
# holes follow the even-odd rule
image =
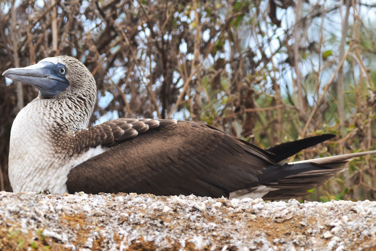
[[[376,202],[0,192],[1,250],[376,250]]]

